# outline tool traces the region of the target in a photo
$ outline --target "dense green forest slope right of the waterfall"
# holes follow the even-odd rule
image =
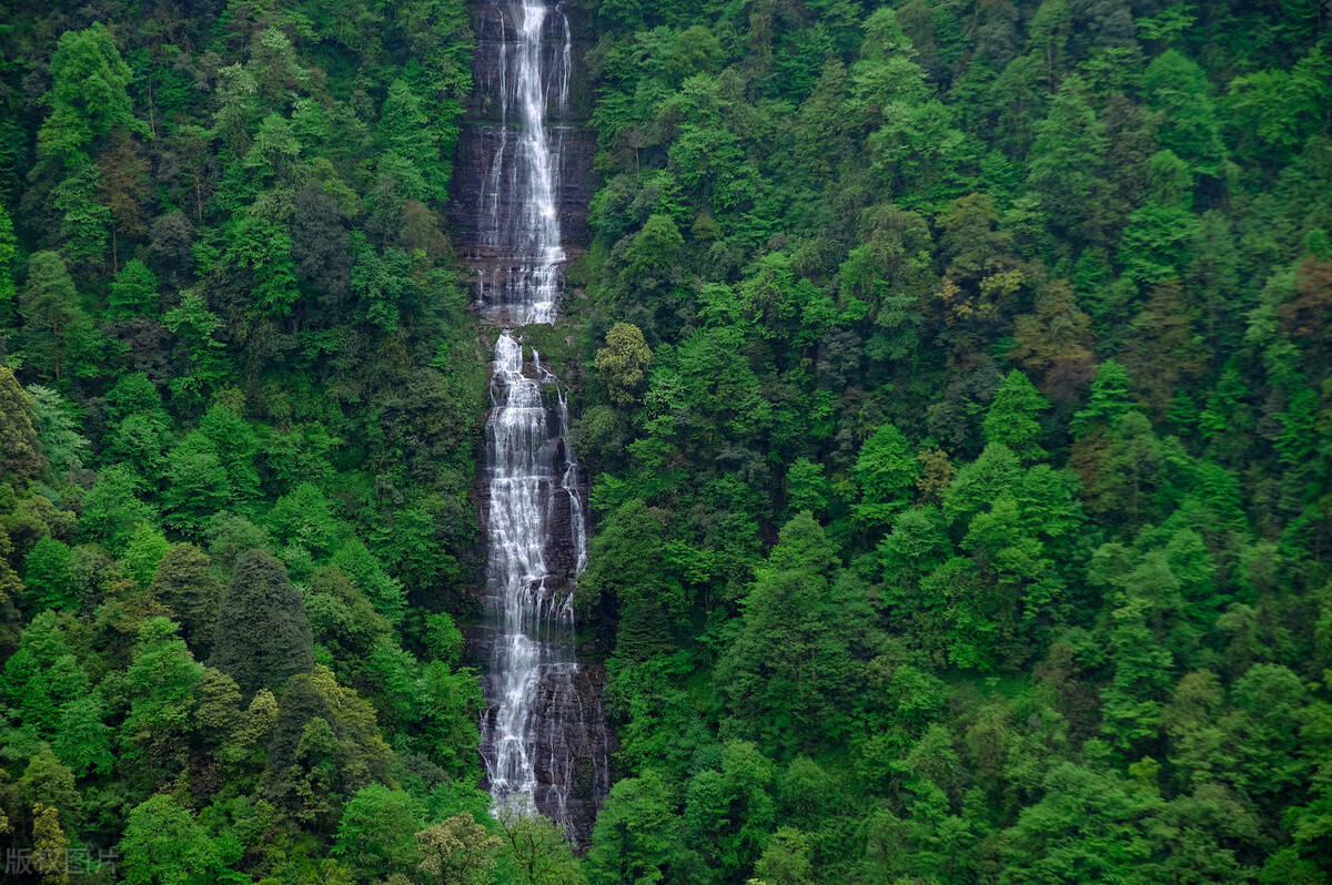
[[[1313,5],[705,5],[594,11],[589,877],[1316,881]]]

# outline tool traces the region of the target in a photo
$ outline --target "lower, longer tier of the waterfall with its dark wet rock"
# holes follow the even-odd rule
[[[587,531],[565,398],[537,351],[496,342],[482,519],[486,620],[474,635],[490,704],[481,723],[498,810],[535,810],[586,844],[610,788],[601,668],[574,647],[574,580]]]

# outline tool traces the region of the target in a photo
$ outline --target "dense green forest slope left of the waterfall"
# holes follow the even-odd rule
[[[484,876],[466,11],[97,15],[0,29],[0,841],[350,882],[344,806],[404,784],[392,872],[449,818]]]

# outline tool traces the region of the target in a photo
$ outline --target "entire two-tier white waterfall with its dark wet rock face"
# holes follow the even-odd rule
[[[497,810],[534,808],[582,848],[610,789],[611,743],[605,672],[579,664],[574,641],[586,490],[563,394],[518,329],[555,321],[585,237],[590,144],[571,110],[582,51],[562,4],[485,0],[477,15],[450,217],[477,310],[501,327],[480,483],[486,619],[472,631],[489,700],[481,757]]]

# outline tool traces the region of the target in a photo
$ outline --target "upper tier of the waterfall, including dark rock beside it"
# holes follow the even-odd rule
[[[554,322],[569,246],[585,237],[590,144],[569,125],[574,45],[563,4],[481,8],[452,216],[477,307],[498,325]]]

